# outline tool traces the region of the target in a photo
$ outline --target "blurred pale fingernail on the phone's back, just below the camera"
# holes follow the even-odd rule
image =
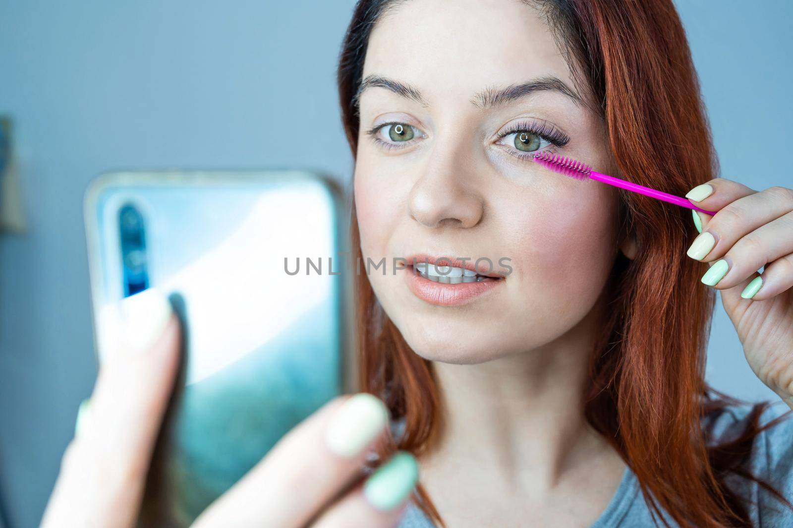
[[[140,352],[153,345],[163,334],[170,312],[170,303],[155,288],[121,300],[121,341],[125,350]]]

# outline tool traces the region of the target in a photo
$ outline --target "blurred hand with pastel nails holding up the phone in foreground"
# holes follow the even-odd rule
[[[178,321],[154,289],[122,301],[116,354],[99,369],[90,408],[63,455],[44,528],[132,528],[151,452],[174,384]],[[339,396],[290,430],[193,523],[330,528],[397,526],[418,479],[397,452],[362,481],[366,454],[385,440],[389,412],[366,393]]]

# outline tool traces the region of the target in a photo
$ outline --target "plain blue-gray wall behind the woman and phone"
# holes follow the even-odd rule
[[[353,4],[0,3],[0,113],[14,120],[29,222],[23,235],[0,235],[0,484],[14,527],[40,519],[96,375],[86,183],[144,167],[295,166],[347,178],[334,75]],[[791,186],[793,3],[678,7],[722,176]],[[717,310],[709,380],[750,400],[775,397]]]

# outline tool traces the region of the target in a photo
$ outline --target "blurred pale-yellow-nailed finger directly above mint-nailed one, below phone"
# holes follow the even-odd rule
[[[362,474],[389,411],[365,392],[339,396],[290,430],[193,527],[305,526]]]

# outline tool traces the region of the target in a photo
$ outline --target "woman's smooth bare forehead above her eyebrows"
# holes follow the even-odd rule
[[[573,86],[550,29],[519,0],[410,0],[377,22],[363,76],[419,86],[429,104],[555,76]]]

